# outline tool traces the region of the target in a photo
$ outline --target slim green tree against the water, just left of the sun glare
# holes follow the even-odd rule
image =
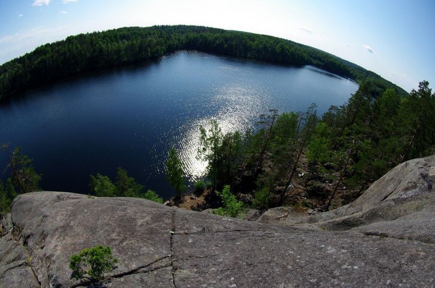
[[[175,188],[176,199],[181,199],[181,193],[186,190],[186,180],[184,179],[183,163],[178,157],[177,151],[172,147],[168,152],[166,161],[167,180]]]

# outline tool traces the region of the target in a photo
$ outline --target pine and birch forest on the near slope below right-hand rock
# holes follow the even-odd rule
[[[434,154],[434,123],[427,81],[404,97],[366,81],[321,116],[315,104],[299,113],[270,110],[254,134],[223,134],[212,122],[201,128],[198,150],[209,163],[208,207],[223,204],[223,214],[237,216],[242,203],[234,195],[257,209],[348,204],[399,163]]]

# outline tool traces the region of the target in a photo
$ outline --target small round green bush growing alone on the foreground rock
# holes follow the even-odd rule
[[[94,246],[71,255],[69,267],[74,272],[72,277],[97,282],[114,270],[117,262],[109,246]]]

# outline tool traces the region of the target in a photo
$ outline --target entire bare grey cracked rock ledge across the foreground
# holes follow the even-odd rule
[[[69,257],[109,245],[117,268],[93,287],[435,287],[435,156],[403,163],[359,199],[265,224],[133,198],[18,196],[0,239],[0,287],[82,287]],[[281,213],[283,216],[279,216]]]

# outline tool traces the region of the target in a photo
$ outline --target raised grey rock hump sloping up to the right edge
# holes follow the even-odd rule
[[[361,197],[339,209],[312,216],[267,221],[280,225],[350,230],[435,244],[435,155],[402,163],[374,182]],[[268,212],[266,212],[267,214]]]

